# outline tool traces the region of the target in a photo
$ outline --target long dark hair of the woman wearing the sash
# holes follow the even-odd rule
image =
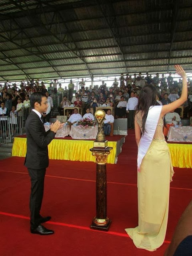
[[[146,85],[142,88],[138,98],[136,114],[141,111],[142,117],[142,133],[145,132],[145,123],[150,106],[159,105],[157,102],[157,90],[152,85]]]

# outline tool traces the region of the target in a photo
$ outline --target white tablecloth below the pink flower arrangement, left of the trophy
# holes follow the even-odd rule
[[[98,126],[91,126],[90,128],[82,128],[80,126],[71,126],[70,136],[73,139],[78,140],[89,140],[89,139],[96,139],[98,133]]]

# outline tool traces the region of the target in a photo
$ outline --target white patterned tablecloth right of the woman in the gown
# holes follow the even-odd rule
[[[192,142],[192,126],[182,126],[178,128],[170,126],[167,140],[176,142]]]

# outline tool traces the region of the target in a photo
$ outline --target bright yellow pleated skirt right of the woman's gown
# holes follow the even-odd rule
[[[168,143],[174,167],[192,168],[192,144]]]

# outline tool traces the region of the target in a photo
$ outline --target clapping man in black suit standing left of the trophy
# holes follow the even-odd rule
[[[50,235],[53,230],[48,230],[41,225],[51,219],[43,218],[40,209],[44,192],[44,177],[48,167],[48,144],[54,139],[55,133],[62,127],[58,120],[45,132],[42,113],[48,108],[47,98],[41,92],[34,92],[30,97],[32,111],[26,120],[27,154],[25,166],[31,178],[30,194],[30,231],[33,234]]]

